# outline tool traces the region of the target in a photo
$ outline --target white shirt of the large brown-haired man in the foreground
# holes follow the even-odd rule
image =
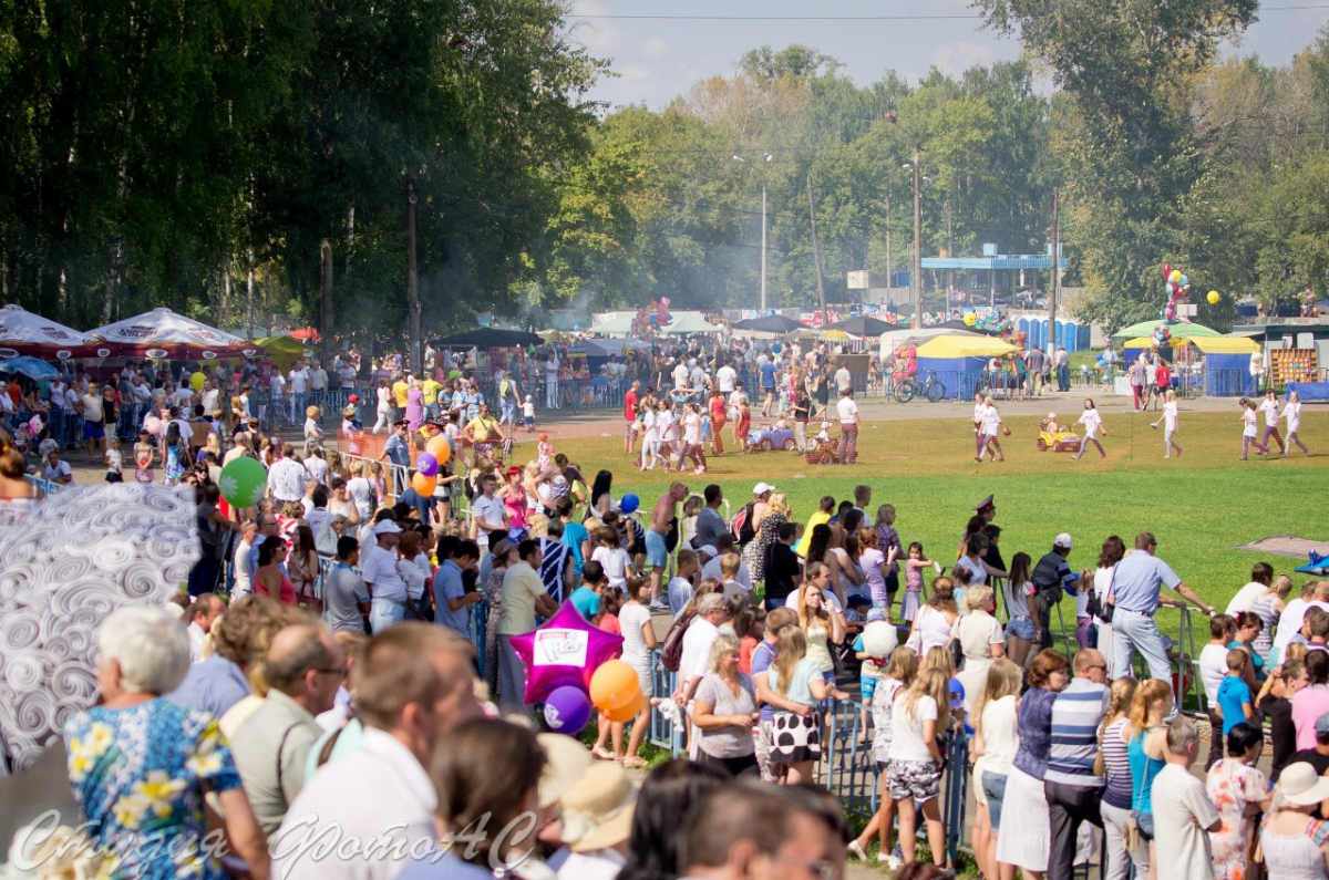
[[[365,727],[360,751],[324,764],[304,782],[270,840],[282,880],[392,880],[412,849],[437,836],[439,800],[429,775],[389,734]],[[312,857],[320,840],[372,841],[350,855]],[[399,855],[400,853],[400,855]]]

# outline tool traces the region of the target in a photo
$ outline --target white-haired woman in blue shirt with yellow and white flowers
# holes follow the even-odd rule
[[[189,670],[185,625],[162,607],[128,606],[97,631],[102,702],[65,724],[69,782],[88,835],[116,876],[226,876],[206,840],[215,792],[226,835],[254,877],[268,856],[217,719],[162,699]]]

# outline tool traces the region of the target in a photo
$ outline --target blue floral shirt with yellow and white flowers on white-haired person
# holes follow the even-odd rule
[[[96,706],[65,724],[65,751],[102,876],[226,876],[215,841],[205,843],[203,795],[239,788],[241,778],[213,715],[161,698]]]

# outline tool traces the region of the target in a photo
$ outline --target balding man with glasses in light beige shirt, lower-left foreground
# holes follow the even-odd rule
[[[231,736],[231,755],[264,835],[282,824],[304,787],[304,762],[323,735],[316,716],[332,709],[346,679],[336,638],[322,623],[287,626],[272,637],[263,665],[263,705]]]

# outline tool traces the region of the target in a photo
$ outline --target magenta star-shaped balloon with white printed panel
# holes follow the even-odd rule
[[[571,602],[530,633],[512,637],[512,647],[526,666],[526,703],[546,699],[556,687],[590,687],[599,665],[618,653],[623,637],[591,626]]]

